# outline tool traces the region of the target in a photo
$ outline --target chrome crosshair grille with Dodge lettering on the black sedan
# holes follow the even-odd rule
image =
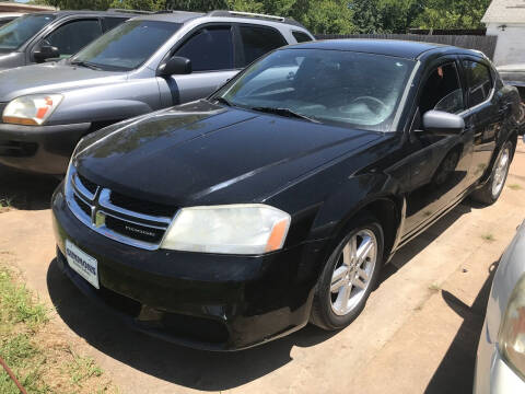
[[[68,206],[85,225],[128,245],[159,248],[176,209],[114,193],[80,175],[73,166],[66,182]]]

